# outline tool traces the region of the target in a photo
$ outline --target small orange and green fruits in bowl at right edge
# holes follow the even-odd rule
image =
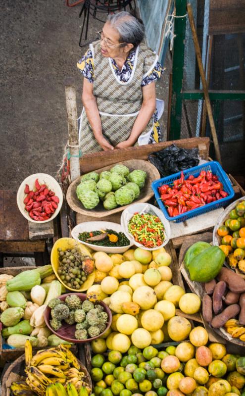
[[[220,248],[224,251],[229,265],[245,272],[245,200],[237,203],[229,213],[229,218],[217,230]]]

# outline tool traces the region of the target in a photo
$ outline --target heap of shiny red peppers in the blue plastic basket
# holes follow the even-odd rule
[[[197,177],[190,175],[187,179],[182,171],[179,179],[174,180],[171,185],[160,186],[158,192],[170,217],[228,196],[218,176],[205,170],[202,170]]]

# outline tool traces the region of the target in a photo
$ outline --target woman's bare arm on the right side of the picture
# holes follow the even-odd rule
[[[152,82],[142,87],[143,103],[140,112],[135,120],[130,137],[124,142],[118,143],[115,148],[126,148],[134,146],[141,133],[146,129],[147,124],[156,108],[155,83]]]

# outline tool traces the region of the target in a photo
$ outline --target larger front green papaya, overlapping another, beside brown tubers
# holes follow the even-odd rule
[[[210,246],[197,254],[189,264],[190,278],[196,282],[209,282],[220,272],[225,253],[218,246]]]

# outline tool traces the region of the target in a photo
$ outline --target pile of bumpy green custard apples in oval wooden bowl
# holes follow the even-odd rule
[[[117,164],[110,171],[83,175],[76,189],[77,198],[86,209],[94,209],[102,201],[104,209],[111,210],[139,198],[146,178],[144,170],[130,172],[127,166]]]

